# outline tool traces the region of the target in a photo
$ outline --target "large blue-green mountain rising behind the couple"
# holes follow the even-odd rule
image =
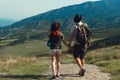
[[[51,10],[1,28],[0,36],[2,38],[35,38],[42,36],[43,39],[43,33],[47,32],[50,24],[54,21],[60,22],[61,30],[67,32],[74,24],[73,17],[77,13],[82,14],[83,22],[87,22],[92,29],[120,28],[119,3],[120,0],[89,1]]]

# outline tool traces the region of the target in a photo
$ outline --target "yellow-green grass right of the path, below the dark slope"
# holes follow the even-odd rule
[[[90,51],[86,61],[100,66],[101,71],[110,73],[112,80],[120,79],[120,45]]]

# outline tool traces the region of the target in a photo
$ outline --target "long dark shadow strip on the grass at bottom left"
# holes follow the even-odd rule
[[[0,75],[0,78],[10,78],[10,79],[49,79],[51,75]]]

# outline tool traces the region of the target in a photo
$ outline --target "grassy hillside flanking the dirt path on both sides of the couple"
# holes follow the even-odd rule
[[[86,62],[100,66],[101,71],[111,73],[112,80],[119,80],[119,29],[93,30],[93,33],[92,49],[86,56]],[[106,46],[100,47],[101,44]],[[1,40],[0,46],[0,80],[44,80],[47,77],[42,74],[50,66],[51,59],[46,40]],[[75,62],[65,46],[61,58],[62,63]]]

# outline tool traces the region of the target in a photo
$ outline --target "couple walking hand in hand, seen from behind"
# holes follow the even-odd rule
[[[80,14],[76,14],[74,17],[75,25],[72,26],[70,35],[69,35],[69,43],[64,39],[63,33],[60,32],[60,24],[57,22],[54,22],[51,24],[50,29],[48,30],[48,37],[50,40],[50,55],[51,55],[51,66],[53,71],[53,77],[52,79],[55,79],[56,77],[60,76],[60,55],[62,53],[61,50],[61,41],[68,47],[68,49],[71,49],[71,43],[74,41],[73,46],[73,57],[77,63],[77,65],[80,68],[79,75],[83,76],[85,73],[84,69],[84,56],[86,54],[87,47],[89,46],[89,40],[90,37],[88,37],[90,34],[86,34],[86,36],[83,36],[84,38],[87,38],[87,41],[83,42],[82,39],[79,39],[79,33],[80,31],[81,35],[85,34],[85,32],[90,32],[87,24],[81,22],[82,16]],[[84,29],[82,29],[84,28]],[[78,30],[79,29],[79,30]],[[77,31],[78,30],[78,31]],[[83,33],[82,33],[83,32]],[[77,36],[76,36],[77,34]],[[77,38],[76,38],[77,37]],[[78,40],[79,39],[79,40]],[[56,69],[57,66],[57,69]],[[57,70],[57,71],[56,71]]]

